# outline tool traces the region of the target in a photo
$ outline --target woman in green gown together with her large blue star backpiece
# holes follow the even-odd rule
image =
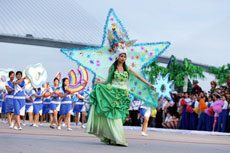
[[[143,100],[146,106],[157,107],[154,96],[156,92],[153,85],[145,80],[147,76],[144,69],[156,60],[170,43],[134,44],[135,42],[129,40],[121,21],[111,9],[101,46],[61,50],[69,59],[92,72],[93,83],[96,77],[102,80],[96,82],[90,94],[91,111],[86,131],[107,144],[128,145],[122,124],[128,115],[129,94]]]

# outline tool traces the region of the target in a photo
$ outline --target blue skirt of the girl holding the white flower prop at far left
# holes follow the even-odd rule
[[[14,99],[14,115],[25,115],[25,99]]]

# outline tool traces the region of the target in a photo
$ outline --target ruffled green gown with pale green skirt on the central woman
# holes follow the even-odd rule
[[[91,110],[86,132],[96,135],[106,144],[128,146],[123,123],[131,102],[127,89],[130,72],[121,73],[114,71],[114,66],[111,68],[107,83],[96,84],[90,94]]]

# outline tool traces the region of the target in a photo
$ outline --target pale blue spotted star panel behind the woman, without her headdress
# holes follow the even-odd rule
[[[106,80],[109,67],[114,62],[114,57],[109,52],[110,45],[108,41],[108,30],[112,30],[114,24],[118,25],[123,33],[126,32],[114,10],[110,9],[104,27],[102,43],[99,47],[61,49],[61,52],[69,59],[84,66],[88,71],[93,73],[93,84],[96,77]],[[126,34],[125,38],[129,40],[128,34]],[[128,47],[126,64],[136,73],[147,79],[144,74],[144,68],[156,60],[169,46],[170,42],[139,43],[131,45]],[[141,100],[149,101],[152,99],[152,91],[139,80],[130,80],[129,89],[131,94]],[[155,103],[154,106],[156,105]]]

